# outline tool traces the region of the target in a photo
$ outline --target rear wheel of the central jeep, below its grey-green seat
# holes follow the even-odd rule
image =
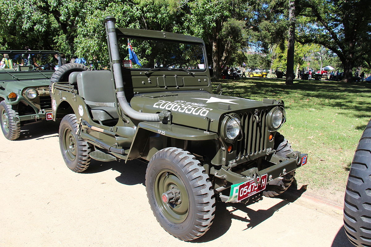
[[[63,160],[72,171],[82,172],[89,167],[92,146],[87,141],[79,140],[75,114],[63,117],[59,125],[59,146]]]

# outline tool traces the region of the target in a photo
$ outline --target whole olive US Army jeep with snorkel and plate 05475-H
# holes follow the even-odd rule
[[[307,155],[277,132],[286,119],[283,101],[212,94],[199,38],[115,28],[112,16],[105,27],[111,71],[52,81],[53,118],[63,118],[60,149],[72,171],[84,171],[91,159],[148,162],[152,211],[181,240],[209,229],[216,200],[246,203],[290,186]],[[128,40],[140,65],[128,60]]]

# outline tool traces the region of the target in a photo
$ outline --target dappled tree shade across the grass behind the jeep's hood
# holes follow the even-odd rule
[[[243,85],[236,84],[244,83]],[[365,104],[371,95],[370,83],[343,83],[326,80],[295,80],[293,85],[286,85],[284,79],[247,78],[244,80],[213,80],[216,85],[221,83],[224,94],[242,98],[275,99],[281,97],[295,100],[295,105],[302,104],[309,98],[320,106],[329,106],[335,109],[352,110],[346,114],[349,117],[370,117],[371,104]],[[291,97],[291,98],[290,98]],[[364,99],[363,99],[364,98]],[[286,108],[290,105],[286,102]],[[314,104],[314,103],[313,103]],[[362,126],[360,126],[362,127]]]

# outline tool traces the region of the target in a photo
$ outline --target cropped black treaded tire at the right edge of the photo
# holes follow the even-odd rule
[[[359,140],[349,171],[344,229],[354,246],[371,246],[371,120]]]

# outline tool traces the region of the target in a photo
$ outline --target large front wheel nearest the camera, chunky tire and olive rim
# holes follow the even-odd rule
[[[162,228],[180,240],[193,240],[209,230],[215,198],[209,176],[187,151],[164,148],[152,156],[145,175],[148,201]],[[162,193],[177,188],[180,200],[165,203]]]

